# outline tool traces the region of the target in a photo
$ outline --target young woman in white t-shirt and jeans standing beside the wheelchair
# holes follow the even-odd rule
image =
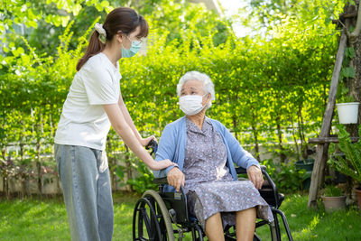
[[[57,133],[55,158],[69,217],[72,240],[111,240],[113,200],[106,160],[106,134],[113,126],[124,143],[149,168],[174,165],[155,162],[125,107],[118,60],[139,51],[148,23],[133,9],[119,7],[97,23],[88,49],[77,65]]]

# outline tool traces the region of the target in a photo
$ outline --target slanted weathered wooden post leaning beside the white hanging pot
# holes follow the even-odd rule
[[[344,52],[347,44],[347,34],[345,30],[341,33],[340,41],[338,44],[338,54],[336,56],[335,67],[332,73],[331,86],[329,88],[329,100],[323,115],[321,131],[319,137],[328,137],[331,128],[331,121],[333,116],[333,110],[335,108],[336,94],[338,91],[338,78],[342,68],[342,62],[344,60]],[[318,144],[316,148],[316,160],[313,165],[312,177],[310,182],[310,192],[308,207],[317,207],[317,193],[319,191],[319,185],[322,181],[325,163],[327,161],[329,144]]]

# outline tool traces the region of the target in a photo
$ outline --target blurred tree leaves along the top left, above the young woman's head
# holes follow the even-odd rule
[[[217,14],[204,11],[204,6],[189,1],[5,0],[0,4],[0,30],[6,34],[0,35],[0,41],[4,42],[5,50],[12,48],[13,43],[24,48],[19,38],[22,35],[38,52],[54,55],[60,44],[58,37],[70,22],[77,23],[72,27],[72,33],[78,39],[88,29],[89,23],[103,22],[106,14],[119,6],[133,7],[146,19],[152,19],[162,32],[171,32],[169,41],[180,41],[182,29],[198,28],[202,35],[216,32],[218,45],[225,42],[230,32],[227,21],[219,20]],[[69,45],[70,50],[77,48],[76,42],[69,42]]]

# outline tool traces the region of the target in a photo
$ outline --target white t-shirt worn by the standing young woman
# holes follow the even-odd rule
[[[121,78],[104,53],[91,57],[74,76],[54,142],[105,150],[110,121],[102,105],[118,103]]]

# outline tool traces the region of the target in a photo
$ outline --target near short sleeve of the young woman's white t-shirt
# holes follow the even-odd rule
[[[90,105],[116,104],[118,95],[111,71],[102,66],[88,65],[82,79]]]

